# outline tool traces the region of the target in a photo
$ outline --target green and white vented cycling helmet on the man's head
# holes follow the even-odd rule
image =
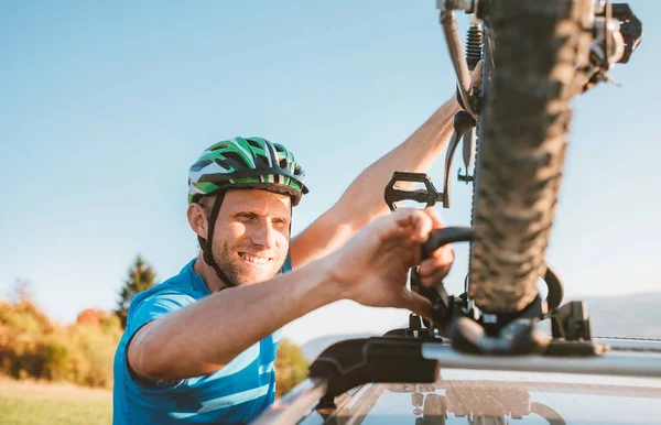
[[[297,205],[307,187],[294,155],[262,138],[234,138],[206,149],[188,171],[188,204],[218,189],[257,188],[292,197]]]

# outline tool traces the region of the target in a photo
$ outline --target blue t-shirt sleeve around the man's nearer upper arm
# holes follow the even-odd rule
[[[148,391],[167,391],[178,386],[183,381],[174,382],[154,382],[138,375],[129,364],[128,360],[128,347],[131,340],[147,324],[162,317],[166,314],[176,312],[187,305],[195,303],[195,298],[191,295],[176,293],[176,292],[162,292],[150,295],[145,299],[140,301],[136,305],[131,305],[129,309],[129,317],[127,318],[127,331],[129,333],[129,339],[126,347],[126,367],[129,374],[129,379],[136,383],[142,390]]]

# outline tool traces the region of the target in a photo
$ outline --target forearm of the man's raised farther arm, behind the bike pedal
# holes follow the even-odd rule
[[[459,105],[453,96],[438,108],[402,144],[390,151],[356,177],[335,208],[358,229],[388,212],[383,189],[394,171],[423,172],[447,146],[453,132],[453,118]],[[407,188],[407,185],[402,185]]]

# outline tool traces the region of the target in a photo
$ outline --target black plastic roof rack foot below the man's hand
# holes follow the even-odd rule
[[[435,382],[438,361],[422,356],[422,344],[412,338],[373,337],[328,347],[310,367],[311,379],[327,382],[316,410],[335,410],[335,396],[368,382]]]

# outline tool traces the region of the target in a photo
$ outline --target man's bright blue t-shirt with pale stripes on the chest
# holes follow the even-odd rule
[[[280,330],[241,352],[219,371],[161,386],[128,369],[127,345],[142,326],[209,295],[191,261],[181,273],[133,297],[127,328],[115,353],[112,424],[239,424],[254,418],[275,397],[273,362]],[[291,270],[288,257],[281,272]],[[192,329],[191,331],[195,331]]]

